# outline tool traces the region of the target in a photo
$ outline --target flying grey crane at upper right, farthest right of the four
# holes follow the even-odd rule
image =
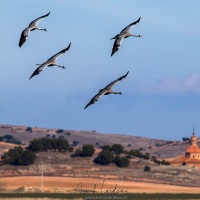
[[[125,28],[124,28],[119,34],[117,34],[115,37],[111,38],[111,40],[115,39],[115,42],[114,42],[113,48],[112,48],[111,56],[112,56],[116,51],[119,50],[119,47],[120,47],[120,45],[121,45],[121,43],[122,43],[122,40],[123,40],[124,38],[130,37],[130,36],[133,36],[133,37],[142,37],[141,35],[133,35],[133,34],[131,34],[131,33],[129,32],[131,28],[133,28],[137,23],[139,23],[140,18],[141,18],[141,17],[139,17],[139,19],[138,19],[137,21],[135,21],[135,22],[129,24],[127,27],[125,27]]]

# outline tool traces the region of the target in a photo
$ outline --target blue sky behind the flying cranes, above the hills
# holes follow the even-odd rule
[[[200,135],[200,1],[0,1],[0,123],[166,140]],[[44,31],[32,31],[34,19]],[[113,40],[141,17],[112,57]],[[29,80],[37,63],[66,48]],[[123,95],[85,105],[111,81]]]

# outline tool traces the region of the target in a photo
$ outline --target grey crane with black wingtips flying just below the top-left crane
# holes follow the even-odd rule
[[[66,51],[69,50],[71,46],[71,42],[69,44],[69,46],[65,49],[63,49],[62,51],[58,52],[57,54],[53,55],[51,58],[49,58],[46,62],[42,63],[42,64],[36,64],[39,65],[39,67],[33,72],[33,74],[31,75],[31,77],[29,78],[29,80],[35,76],[38,75],[42,70],[44,70],[46,67],[51,67],[51,66],[58,66],[61,67],[63,69],[66,69],[64,66],[58,65],[56,63],[57,58],[59,58],[61,55],[63,55]]]

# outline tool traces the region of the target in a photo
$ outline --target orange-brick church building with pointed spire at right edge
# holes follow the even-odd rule
[[[190,139],[190,146],[185,151],[185,156],[179,156],[170,162],[172,166],[193,166],[200,168],[200,149],[197,145],[197,137],[194,129]]]

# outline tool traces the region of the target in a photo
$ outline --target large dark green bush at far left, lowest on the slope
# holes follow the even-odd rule
[[[3,162],[10,165],[29,165],[34,162],[35,158],[36,155],[34,152],[24,150],[20,146],[10,149],[2,156]]]

